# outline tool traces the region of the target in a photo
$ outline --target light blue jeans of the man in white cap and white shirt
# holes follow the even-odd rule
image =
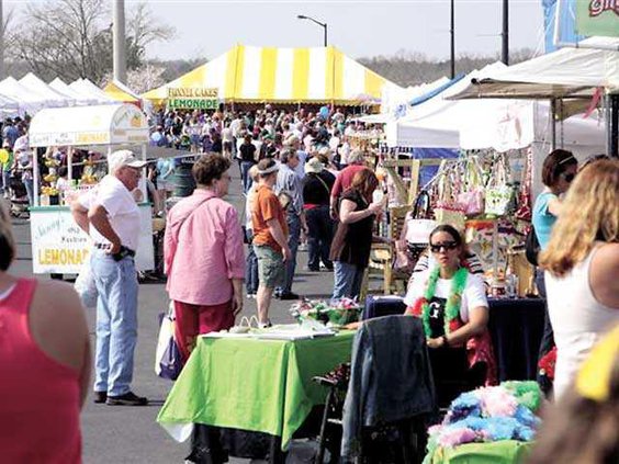
[[[137,342],[137,273],[133,258],[114,261],[93,249],[90,259],[97,284],[97,351],[94,391],[120,396],[130,392]]]

